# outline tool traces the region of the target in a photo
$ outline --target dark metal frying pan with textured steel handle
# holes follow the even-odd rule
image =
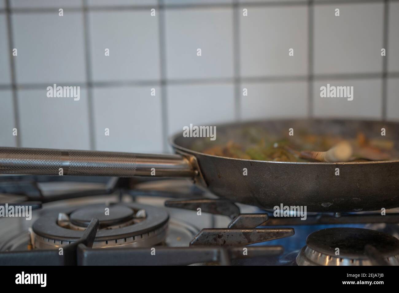
[[[294,135],[296,130],[306,129],[344,138],[354,138],[362,131],[371,139],[381,139],[381,128],[385,128],[384,139],[392,140],[399,149],[399,123],[358,120],[224,124],[216,126],[215,142],[253,126],[275,134],[293,128]],[[347,212],[399,206],[399,160],[303,163],[234,159],[192,150],[197,140],[182,133],[172,137],[177,153],[173,155],[0,147],[0,174],[59,175],[62,168],[63,175],[189,177],[219,197],[266,209],[282,204],[306,206],[308,212]]]

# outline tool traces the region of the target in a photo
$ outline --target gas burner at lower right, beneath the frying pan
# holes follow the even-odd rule
[[[399,240],[361,228],[329,228],[313,232],[296,258],[298,265],[372,265],[365,246],[377,250],[388,264],[399,265]],[[339,255],[336,255],[339,248]]]

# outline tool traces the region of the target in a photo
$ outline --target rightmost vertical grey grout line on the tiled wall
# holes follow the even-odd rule
[[[381,92],[381,116],[382,120],[387,119],[387,71],[388,71],[388,32],[389,32],[389,1],[384,1],[384,31],[383,31],[383,46],[385,52],[388,52],[384,57],[382,57],[382,92]]]

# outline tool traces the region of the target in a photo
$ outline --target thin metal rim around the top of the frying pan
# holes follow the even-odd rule
[[[226,127],[226,126],[233,126],[233,125],[245,125],[245,124],[254,124],[257,122],[280,122],[280,121],[291,121],[291,120],[296,120],[296,121],[341,121],[341,122],[380,122],[380,123],[385,123],[385,124],[397,124],[397,122],[391,122],[391,121],[380,121],[380,120],[356,120],[356,119],[337,119],[337,118],[332,118],[332,119],[319,119],[319,118],[280,118],[280,119],[256,119],[256,120],[245,120],[243,122],[227,122],[227,123],[222,123],[222,124],[215,124],[216,127]],[[176,140],[182,135],[183,132],[177,132],[174,135],[172,135],[169,138],[169,143],[174,149],[179,149],[181,151],[184,151],[185,153],[191,153],[197,155],[202,155],[206,157],[215,157],[215,158],[222,158],[222,159],[230,159],[230,160],[237,160],[237,161],[244,161],[244,162],[260,162],[260,163],[273,163],[273,164],[294,164],[294,165],[368,165],[368,164],[385,164],[385,163],[399,163],[399,159],[397,160],[389,160],[389,161],[365,161],[365,162],[338,162],[338,163],[328,163],[328,162],[280,162],[280,161],[261,161],[261,160],[253,160],[253,159],[240,159],[240,158],[231,158],[231,157],[222,157],[222,156],[217,156],[217,155],[210,155],[207,153],[201,153],[199,151],[194,151],[192,149],[188,149],[186,147],[180,146],[176,143]]]

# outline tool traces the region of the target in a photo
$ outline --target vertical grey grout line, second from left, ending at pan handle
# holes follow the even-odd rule
[[[90,39],[89,39],[89,17],[86,9],[87,0],[82,1],[83,8],[83,31],[84,31],[84,44],[85,44],[85,65],[86,65],[86,87],[87,87],[87,109],[88,109],[88,123],[89,123],[89,144],[90,149],[97,149],[95,140],[95,123],[94,123],[94,108],[93,108],[93,88],[91,85],[91,56],[90,56]]]

